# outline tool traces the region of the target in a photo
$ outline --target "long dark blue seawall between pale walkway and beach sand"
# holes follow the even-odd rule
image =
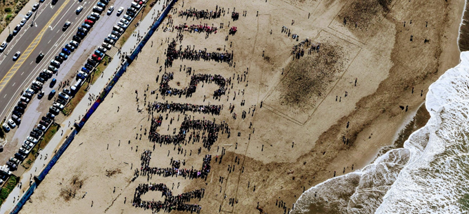
[[[81,128],[83,128],[83,126],[86,124],[86,121],[88,121],[88,119],[90,119],[90,117],[94,113],[94,111],[99,107],[101,102],[109,94],[112,87],[114,87],[114,85],[117,83],[117,81],[119,81],[119,78],[123,75],[123,73],[126,72],[127,67],[132,63],[132,61],[137,57],[137,55],[139,55],[139,52],[141,51],[141,48],[143,48],[143,46],[145,46],[145,44],[148,42],[148,39],[150,39],[150,37],[152,37],[153,33],[157,30],[157,28],[161,24],[161,21],[163,21],[163,19],[168,15],[168,13],[170,12],[172,6],[174,6],[174,3],[176,3],[176,1],[177,0],[171,1],[170,4],[168,5],[168,7],[165,8],[163,13],[159,17],[159,19],[157,19],[157,21],[155,21],[153,23],[152,28],[150,28],[150,30],[148,30],[147,35],[145,37],[143,37],[142,41],[139,43],[137,48],[135,48],[134,52],[132,52],[132,55],[130,55],[128,57],[130,60],[126,61],[123,64],[123,66],[121,66],[119,71],[116,72],[116,74],[114,75],[114,77],[112,78],[112,80],[110,81],[108,86],[106,86],[106,88],[104,88],[101,95],[99,95],[99,98],[97,99],[97,101],[94,101],[94,104],[88,110],[88,112],[83,117],[83,119],[81,119],[79,124],[74,124],[75,129],[72,131],[70,136],[62,144],[62,146],[59,148],[59,150],[57,150],[57,153],[55,153],[55,155],[52,157],[52,159],[50,159],[50,162],[47,164],[46,168],[44,168],[43,171],[41,171],[41,173],[39,173],[38,176],[34,176],[34,182],[32,182],[30,188],[28,188],[28,190],[24,193],[23,197],[21,197],[21,200],[19,200],[17,205],[14,206],[14,208],[12,209],[12,211],[10,213],[17,214],[17,213],[19,213],[19,211],[21,211],[21,208],[23,208],[24,204],[30,199],[32,193],[34,193],[34,190],[37,188],[37,186],[39,184],[41,184],[41,182],[46,177],[46,175],[48,175],[48,173],[49,173],[50,169],[52,168],[52,166],[54,166],[57,163],[57,161],[59,160],[61,155],[63,155],[65,150],[68,148],[68,146],[70,146],[70,144],[72,143],[75,135],[77,135],[79,133],[79,130]]]

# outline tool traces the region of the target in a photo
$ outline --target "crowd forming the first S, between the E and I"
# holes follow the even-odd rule
[[[177,146],[179,144],[184,144],[185,142],[190,142],[192,139],[192,143],[200,142],[202,139],[203,147],[210,150],[214,142],[218,139],[218,133],[226,132],[228,133],[228,137],[230,137],[230,128],[226,122],[221,124],[215,124],[212,121],[208,120],[190,120],[187,119],[187,116],[184,117],[184,121],[181,124],[181,128],[179,128],[179,133],[177,135],[160,135],[157,133],[157,128],[161,126],[161,122],[163,121],[163,116],[159,116],[157,118],[152,119],[152,124],[150,126],[150,133],[148,134],[148,139],[150,142],[154,142],[160,145],[169,145],[173,144]],[[192,133],[190,130],[192,129]],[[197,133],[196,133],[197,130]],[[203,131],[201,134],[200,131]],[[189,139],[186,141],[186,135],[189,135]]]

